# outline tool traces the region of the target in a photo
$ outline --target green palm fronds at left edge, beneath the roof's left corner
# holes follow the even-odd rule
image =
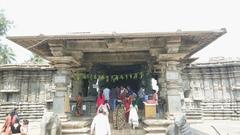
[[[0,45],[0,64],[10,64],[15,61],[15,54],[12,48],[7,45]]]

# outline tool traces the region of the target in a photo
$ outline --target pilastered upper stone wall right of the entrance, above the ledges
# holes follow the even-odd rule
[[[193,64],[182,72],[185,98],[234,101],[240,86],[240,61]]]

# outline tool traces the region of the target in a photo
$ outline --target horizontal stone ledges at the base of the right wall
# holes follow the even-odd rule
[[[203,118],[206,120],[239,120],[240,103],[202,102]]]

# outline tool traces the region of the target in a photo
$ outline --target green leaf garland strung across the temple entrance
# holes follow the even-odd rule
[[[73,80],[101,80],[101,81],[112,81],[116,82],[118,80],[128,80],[128,79],[142,79],[144,77],[143,72],[120,74],[120,75],[104,75],[104,74],[86,74],[81,72],[72,73]]]

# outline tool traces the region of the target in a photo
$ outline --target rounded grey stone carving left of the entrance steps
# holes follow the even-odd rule
[[[41,121],[40,135],[62,135],[61,122],[57,114],[45,112]]]

